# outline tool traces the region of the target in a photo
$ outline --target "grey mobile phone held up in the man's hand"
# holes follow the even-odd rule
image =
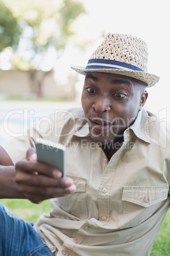
[[[60,143],[39,138],[36,140],[37,160],[62,171],[65,176],[65,150],[66,147]]]

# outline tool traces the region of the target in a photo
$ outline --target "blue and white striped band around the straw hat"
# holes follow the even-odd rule
[[[88,61],[86,69],[120,69],[120,70],[126,70],[126,71],[144,72],[143,69],[140,69],[131,64],[124,63],[117,60],[108,60],[108,59],[90,59]]]

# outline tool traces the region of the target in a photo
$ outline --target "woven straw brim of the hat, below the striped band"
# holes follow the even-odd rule
[[[143,71],[127,71],[127,70],[120,70],[120,69],[85,69],[84,67],[73,66],[71,65],[70,68],[74,69],[77,73],[81,75],[86,75],[86,72],[103,72],[103,73],[112,73],[115,75],[122,75],[122,76],[129,76],[140,80],[144,83],[147,83],[147,87],[154,86],[157,82],[159,82],[160,77],[145,73]]]

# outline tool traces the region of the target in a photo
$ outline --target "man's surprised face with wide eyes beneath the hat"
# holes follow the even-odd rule
[[[81,100],[91,138],[102,145],[121,139],[147,95],[145,83],[133,78],[88,72]]]

